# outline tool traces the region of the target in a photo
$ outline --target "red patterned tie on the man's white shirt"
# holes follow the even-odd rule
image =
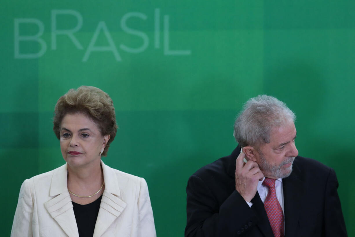
[[[269,188],[269,193],[264,202],[267,217],[275,237],[284,237],[284,214],[276,197],[275,180],[265,178],[263,185]]]

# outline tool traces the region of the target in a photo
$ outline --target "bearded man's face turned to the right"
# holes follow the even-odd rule
[[[293,122],[271,131],[270,143],[257,151],[257,163],[267,178],[286,178],[292,172],[292,164],[298,151],[295,146],[296,127]]]

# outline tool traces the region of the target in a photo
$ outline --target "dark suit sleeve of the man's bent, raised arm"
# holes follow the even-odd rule
[[[219,204],[208,185],[192,175],[186,193],[185,237],[244,236],[257,222],[255,213],[236,190]]]

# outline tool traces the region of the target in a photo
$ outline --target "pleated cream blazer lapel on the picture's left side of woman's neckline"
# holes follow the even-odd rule
[[[73,204],[67,190],[67,172],[66,164],[54,172],[49,195],[55,197],[45,202],[44,206],[69,237],[79,237]]]

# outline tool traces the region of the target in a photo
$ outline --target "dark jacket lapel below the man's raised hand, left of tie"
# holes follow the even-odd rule
[[[258,217],[258,223],[256,226],[260,229],[260,231],[266,237],[274,237],[274,233],[272,232],[269,219],[267,217],[264,204],[260,199],[259,193],[256,192],[255,196],[251,200],[253,204],[251,208],[255,212],[256,216]]]

